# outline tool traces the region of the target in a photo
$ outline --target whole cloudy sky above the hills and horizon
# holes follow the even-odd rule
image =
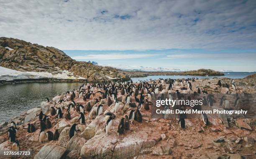
[[[255,0],[0,0],[0,36],[118,68],[256,71]]]

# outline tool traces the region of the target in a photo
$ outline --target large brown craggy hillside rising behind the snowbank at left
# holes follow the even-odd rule
[[[13,38],[0,38],[0,66],[17,71],[53,72],[58,68],[74,72],[88,81],[129,80],[125,71],[75,61],[63,51]]]

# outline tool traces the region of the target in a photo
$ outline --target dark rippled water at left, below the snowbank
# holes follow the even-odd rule
[[[21,112],[40,106],[46,97],[50,100],[68,90],[78,89],[83,83],[24,83],[0,86],[0,123],[9,121]]]

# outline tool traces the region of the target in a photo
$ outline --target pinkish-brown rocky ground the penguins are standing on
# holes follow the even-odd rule
[[[252,76],[254,77],[254,76]],[[229,78],[198,79],[192,83],[192,90],[205,90],[208,93],[256,93],[256,79],[243,78],[235,79],[237,90],[231,87],[226,88],[216,85],[220,80],[222,83],[229,83]],[[138,85],[135,83],[135,85]],[[167,90],[168,84],[163,85],[163,91]],[[175,90],[181,93],[189,93],[189,90],[181,90],[181,86],[174,86]],[[95,88],[94,92],[98,89]],[[192,92],[191,92],[192,93]],[[86,124],[78,124],[79,114],[71,111],[71,120],[56,119],[50,114],[50,108],[60,107],[65,114],[71,101],[66,100],[66,93],[52,98],[50,102],[42,101],[41,106],[30,109],[11,119],[15,121],[19,131],[18,140],[22,151],[32,151],[34,159],[253,159],[256,155],[256,131],[255,119],[234,119],[227,124],[222,118],[209,118],[210,125],[205,126],[202,119],[186,119],[186,129],[182,130],[176,119],[151,119],[151,112],[142,108],[142,123],[134,122],[125,134],[118,135],[117,128],[120,119],[129,114],[131,107],[125,106],[125,95],[118,91],[117,100],[120,102],[120,112],[113,120],[110,134],[104,132],[106,112],[114,112],[115,103],[107,105],[106,99],[99,99],[100,93],[84,101],[83,98],[74,98],[75,103],[82,104],[85,109],[92,106],[90,111],[85,111]],[[69,96],[67,96],[69,98]],[[134,96],[131,102],[136,102]],[[112,99],[113,101],[113,99]],[[90,104],[89,104],[90,103]],[[97,106],[103,104],[103,114],[96,115]],[[217,104],[217,103],[216,103]],[[138,105],[138,104],[137,104]],[[36,114],[43,111],[51,119],[52,127],[47,131],[54,132],[59,129],[57,141],[43,141],[39,143],[40,133],[39,120]],[[37,130],[33,133],[27,132],[27,124],[36,125]],[[69,139],[69,129],[72,124],[77,123],[78,134]],[[10,123],[0,125],[0,150],[11,150],[8,144],[7,130]]]

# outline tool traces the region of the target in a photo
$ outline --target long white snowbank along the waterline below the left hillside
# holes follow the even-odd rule
[[[68,76],[69,75],[69,76]],[[21,72],[0,66],[0,80],[12,81],[15,79],[40,79],[40,78],[56,78],[56,79],[86,79],[80,76],[74,76],[72,72],[67,70],[58,74],[49,72]]]

